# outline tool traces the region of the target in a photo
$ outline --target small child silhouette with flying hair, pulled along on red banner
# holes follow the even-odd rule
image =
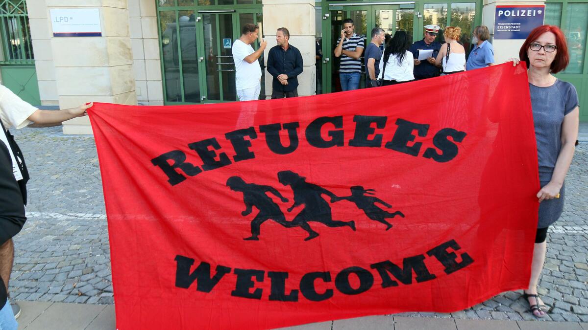
[[[366,196],[366,194],[369,194],[369,195],[375,194],[372,191],[376,191],[376,190],[365,189],[362,186],[353,186],[350,189],[351,189],[351,196],[337,197],[337,198],[335,198],[335,201],[348,200],[352,203],[355,203],[355,205],[360,210],[363,210],[363,213],[368,215],[368,218],[375,220],[379,223],[385,224],[387,226],[386,230],[389,230],[390,228],[392,228],[392,224],[390,224],[388,221],[386,221],[386,218],[393,218],[393,217],[396,217],[396,215],[399,215],[400,217],[404,217],[404,214],[402,214],[402,212],[400,212],[400,211],[390,213],[386,210],[382,210],[382,208],[377,207],[376,203],[382,204],[383,206],[385,206],[387,208],[392,207],[392,205],[386,203],[383,200],[380,200],[380,198],[373,197],[373,196]]]

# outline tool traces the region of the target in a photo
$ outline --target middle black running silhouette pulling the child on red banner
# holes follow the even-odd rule
[[[331,197],[332,201],[338,197],[329,190],[306,182],[305,177],[301,177],[293,171],[278,172],[278,181],[284,186],[290,186],[294,192],[294,204],[288,208],[288,212],[291,212],[297,206],[304,205],[304,208],[294,217],[292,223],[300,225],[309,232],[308,237],[304,239],[305,241],[312,240],[319,235],[310,228],[308,221],[316,221],[329,227],[348,226],[355,231],[355,222],[333,220],[329,203],[322,197],[322,194]],[[310,231],[305,227],[308,227]]]

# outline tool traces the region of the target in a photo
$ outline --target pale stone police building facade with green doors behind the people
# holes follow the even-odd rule
[[[255,23],[268,40],[266,53],[275,45],[276,29],[289,29],[290,43],[303,56],[299,95],[332,93],[340,90],[333,50],[343,19],[352,18],[366,42],[374,26],[406,31],[413,41],[422,39],[427,24],[460,26],[470,49],[476,25],[494,34],[497,5],[545,5],[544,22],[563,29],[570,49],[570,65],[557,76],[576,86],[580,120],[588,121],[588,0],[0,0],[0,79],[29,103],[62,108],[90,101],[231,102],[236,91],[230,48],[240,27]],[[55,9],[98,9],[101,35],[56,35]],[[517,57],[523,43],[491,41],[496,63]],[[271,95],[271,81],[266,72],[261,98]],[[79,118],[66,122],[64,132],[89,134],[91,128]]]

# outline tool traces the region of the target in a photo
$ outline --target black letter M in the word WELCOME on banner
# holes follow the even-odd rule
[[[398,282],[390,278],[392,274],[402,284],[412,284],[412,272],[415,271],[416,281],[425,282],[433,280],[436,276],[431,274],[425,265],[425,256],[422,254],[415,255],[415,257],[404,258],[402,267],[393,264],[389,260],[377,262],[376,264],[370,265],[370,267],[377,270],[382,277],[382,288],[397,287]]]

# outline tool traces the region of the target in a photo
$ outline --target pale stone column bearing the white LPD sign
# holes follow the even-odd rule
[[[101,37],[52,37],[59,107],[84,102],[136,105],[126,0],[45,0],[51,9],[98,8]],[[48,15],[50,16],[50,15]],[[35,49],[35,57],[39,54]],[[65,134],[91,134],[88,117],[68,120]]]

